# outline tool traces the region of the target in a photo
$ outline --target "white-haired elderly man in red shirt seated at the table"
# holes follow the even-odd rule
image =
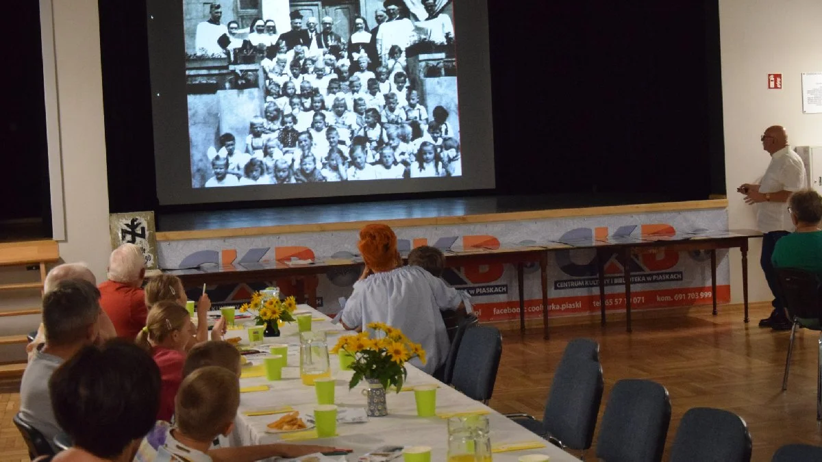
[[[118,337],[134,340],[145,326],[145,259],[140,247],[122,244],[109,257],[109,280],[99,284],[100,307],[109,315]]]

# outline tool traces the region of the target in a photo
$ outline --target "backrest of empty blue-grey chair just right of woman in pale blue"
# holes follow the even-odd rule
[[[490,400],[501,355],[502,336],[496,327],[477,326],[466,330],[451,385],[473,400]]]

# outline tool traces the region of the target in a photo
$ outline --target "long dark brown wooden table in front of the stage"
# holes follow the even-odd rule
[[[762,233],[750,230],[733,231],[704,231],[698,233],[666,234],[657,233],[642,235],[638,238],[630,236],[603,236],[580,239],[565,239],[533,243],[530,245],[506,244],[500,248],[471,247],[455,250],[445,250],[446,266],[459,267],[469,264],[513,264],[517,267],[517,280],[520,297],[520,333],[525,331],[525,300],[524,300],[524,266],[528,263],[537,263],[540,268],[543,302],[543,338],[548,339],[548,296],[547,296],[547,254],[568,250],[593,249],[597,252],[599,275],[599,299],[602,324],[605,324],[605,271],[606,256],[617,252],[623,262],[630,261],[631,257],[641,252],[661,252],[666,249],[675,251],[707,251],[710,252],[711,265],[711,294],[713,298],[713,314],[717,314],[716,300],[716,251],[738,247],[741,250],[742,267],[742,296],[745,306],[744,321],[748,322],[748,241],[751,238],[761,238]],[[229,266],[204,267],[189,270],[168,270],[166,272],[178,275],[186,288],[199,287],[201,284],[238,284],[242,282],[266,281],[276,278],[297,277],[298,301],[306,301],[316,306],[316,288],[305,284],[304,276],[325,274],[329,270],[360,270],[362,258],[328,258],[316,259],[308,263],[293,263],[289,261],[270,261],[253,263],[236,263]],[[630,297],[630,264],[623,264],[625,284],[626,330],[631,331],[631,297]]]

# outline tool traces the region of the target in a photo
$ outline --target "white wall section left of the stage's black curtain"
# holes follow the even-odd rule
[[[66,219],[60,256],[85,261],[104,280],[111,249],[97,0],[53,0],[53,21]]]

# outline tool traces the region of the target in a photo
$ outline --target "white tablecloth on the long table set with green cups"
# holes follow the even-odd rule
[[[336,344],[339,335],[344,335],[342,326],[334,325],[320,312],[316,312],[307,305],[300,305],[298,310],[311,310],[315,317],[324,317],[326,321],[314,321],[313,330],[329,331],[329,346]],[[238,321],[239,322],[239,321]],[[229,330],[226,335],[242,337],[242,343],[247,343],[245,330]],[[385,417],[370,418],[367,423],[338,424],[338,436],[334,438],[312,439],[304,441],[281,441],[278,435],[266,433],[266,425],[274,422],[282,414],[248,417],[244,411],[256,410],[271,406],[292,406],[300,411],[301,416],[312,415],[316,406],[316,394],[313,386],[303,386],[299,375],[299,337],[296,322],[282,328],[280,337],[266,338],[265,344],[254,347],[268,353],[266,344],[289,344],[289,367],[283,369],[282,381],[267,381],[265,377],[251,377],[240,379],[240,386],[269,385],[270,390],[242,393],[240,408],[235,428],[229,437],[232,446],[249,446],[270,444],[275,442],[293,442],[293,444],[318,444],[353,449],[348,456],[349,461],[356,461],[359,455],[384,445],[395,446],[431,446],[432,460],[446,460],[448,450],[448,431],[446,419],[432,417],[420,418],[414,402],[413,391],[386,394],[388,415]],[[259,358],[252,358],[251,362],[260,364]],[[366,404],[363,390],[365,386],[358,385],[349,390],[348,382],[352,372],[340,371],[339,360],[336,355],[330,355],[332,377],[336,379],[335,401],[337,406],[364,408]],[[541,441],[540,437],[511,422],[502,414],[487,408],[478,401],[471,400],[459,391],[450,388],[428,376],[410,364],[408,370],[408,385],[439,384],[436,395],[436,412],[465,412],[477,409],[489,411],[488,419],[491,423],[492,444],[516,443],[524,441]],[[547,441],[546,441],[547,442]],[[501,452],[493,455],[495,462],[515,461],[520,455],[545,454],[551,456],[552,462],[577,460],[574,456],[560,450],[556,446],[547,444],[546,447],[531,450]],[[399,459],[402,460],[402,459]]]

